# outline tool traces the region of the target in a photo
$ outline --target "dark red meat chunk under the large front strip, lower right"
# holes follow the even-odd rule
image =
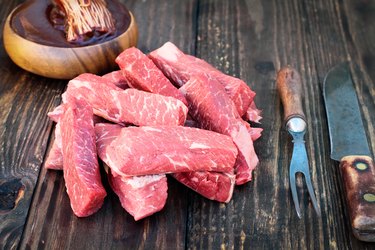
[[[219,202],[229,202],[233,195],[236,176],[232,173],[184,172],[172,174],[202,196]]]

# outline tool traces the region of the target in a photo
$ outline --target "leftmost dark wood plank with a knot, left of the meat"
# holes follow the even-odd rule
[[[20,2],[2,5],[1,30]],[[15,249],[52,128],[45,113],[59,102],[64,84],[24,72],[11,62],[3,46],[0,61],[0,248]],[[4,207],[9,195],[11,202]]]

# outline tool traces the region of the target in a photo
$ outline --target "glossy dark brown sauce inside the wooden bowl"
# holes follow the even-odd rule
[[[107,0],[107,8],[115,20],[116,31],[107,36],[93,36],[80,43],[69,43],[61,28],[54,28],[50,17],[52,3],[50,0],[32,0],[20,5],[12,15],[11,27],[23,38],[54,47],[82,47],[109,41],[124,33],[130,24],[130,14],[124,5],[117,0]]]

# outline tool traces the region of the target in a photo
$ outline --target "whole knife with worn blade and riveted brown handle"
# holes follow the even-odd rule
[[[375,241],[375,167],[347,63],[332,68],[323,83],[331,158],[339,161],[352,232]]]

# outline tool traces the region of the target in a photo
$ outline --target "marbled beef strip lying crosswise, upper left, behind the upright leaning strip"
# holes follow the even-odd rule
[[[187,107],[179,100],[136,89],[121,90],[108,80],[82,74],[69,81],[63,102],[86,100],[94,113],[109,121],[143,125],[183,125]],[[152,107],[152,108],[150,108]]]

